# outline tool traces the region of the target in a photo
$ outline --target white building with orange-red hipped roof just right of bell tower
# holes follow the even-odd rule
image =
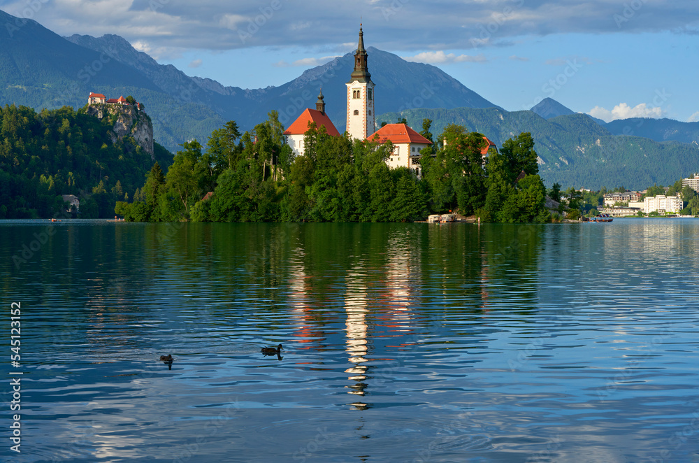
[[[369,141],[375,141],[375,138],[379,143],[387,141],[393,143],[394,151],[386,160],[386,164],[391,169],[408,167],[408,169],[414,170],[417,176],[420,175],[420,150],[433,144],[417,131],[408,127],[408,124],[386,124],[366,137]]]

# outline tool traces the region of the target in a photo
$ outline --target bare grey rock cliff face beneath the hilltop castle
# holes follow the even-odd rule
[[[121,141],[124,136],[132,136],[136,143],[150,155],[155,162],[153,152],[153,124],[150,117],[136,106],[122,104],[91,104],[87,106],[87,114],[102,120],[108,117],[114,121],[110,131],[112,143]]]

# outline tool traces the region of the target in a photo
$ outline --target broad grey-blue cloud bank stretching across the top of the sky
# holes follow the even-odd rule
[[[696,0],[637,1],[639,6],[642,3],[640,9],[626,8],[626,12],[626,3],[621,0],[406,1],[364,2],[364,14],[368,15],[364,24],[366,45],[394,51],[468,50],[503,45],[515,37],[549,34],[696,34],[699,25]],[[22,15],[29,3],[0,0],[0,8]],[[290,6],[287,1],[252,0],[41,0],[29,5],[36,5],[36,11],[29,10],[32,19],[60,35],[117,34],[130,42],[147,40],[154,48],[232,50],[315,46],[319,41],[334,45],[347,41],[349,35],[356,45],[356,2],[297,3]],[[468,8],[463,7],[464,3]],[[386,11],[391,13],[390,20],[382,21]],[[629,17],[617,24],[615,15]],[[425,24],[439,27],[426,28]],[[244,41],[241,31],[250,34]]]

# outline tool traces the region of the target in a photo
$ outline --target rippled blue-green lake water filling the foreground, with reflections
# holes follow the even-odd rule
[[[699,462],[699,220],[1,221],[0,270],[2,461]]]

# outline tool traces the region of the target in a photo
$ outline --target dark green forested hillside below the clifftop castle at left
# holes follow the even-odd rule
[[[63,108],[36,113],[26,106],[0,108],[0,218],[49,218],[66,210],[62,194],[80,199],[80,217],[114,215],[116,201],[131,198],[152,165],[133,138],[112,143],[108,117]],[[171,157],[155,144],[166,166]]]

